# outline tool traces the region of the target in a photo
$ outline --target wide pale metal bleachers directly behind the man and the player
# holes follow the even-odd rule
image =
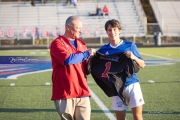
[[[98,4],[101,8],[104,5],[109,7],[109,16],[98,17],[88,15],[89,12],[96,12]],[[109,19],[117,19],[122,23],[122,36],[145,36],[146,34],[133,0],[82,1],[78,3],[77,7],[51,2],[47,2],[45,5],[36,4],[36,6],[31,6],[30,2],[1,4],[0,27],[4,29],[13,27],[14,37],[18,36],[19,39],[23,37],[23,27],[27,27],[29,32],[32,27],[36,27],[38,28],[39,35],[41,35],[42,28],[44,28],[46,31],[49,31],[50,36],[52,27],[57,27],[58,34],[63,34],[65,20],[71,15],[79,16],[82,19],[82,37],[107,36],[104,24]]]

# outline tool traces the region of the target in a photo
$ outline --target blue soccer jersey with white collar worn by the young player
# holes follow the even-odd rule
[[[126,52],[126,51],[131,51],[136,57],[142,59],[141,55],[138,52],[138,49],[136,45],[133,42],[122,40],[117,46],[112,46],[110,43],[102,46],[99,50],[100,53],[106,54],[106,55],[111,55],[119,52]],[[126,83],[125,87],[135,83],[139,82],[139,79],[137,77],[137,74],[134,73],[131,78],[126,78]]]

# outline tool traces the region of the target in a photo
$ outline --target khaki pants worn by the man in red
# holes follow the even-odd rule
[[[61,120],[90,120],[89,97],[55,100],[54,104]]]

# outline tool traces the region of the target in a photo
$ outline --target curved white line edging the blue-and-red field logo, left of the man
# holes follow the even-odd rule
[[[20,74],[16,74],[16,75],[11,75],[11,76],[9,76],[7,78],[0,78],[0,79],[17,79],[17,77],[22,76],[22,75],[41,73],[41,72],[46,72],[46,71],[52,71],[52,69],[40,70],[40,71],[28,72],[28,73],[20,73]]]

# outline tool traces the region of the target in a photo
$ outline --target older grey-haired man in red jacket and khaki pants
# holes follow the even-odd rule
[[[50,47],[52,59],[52,100],[62,120],[90,120],[90,92],[87,85],[87,63],[95,49],[87,50],[79,39],[82,21],[70,16],[65,33]]]

